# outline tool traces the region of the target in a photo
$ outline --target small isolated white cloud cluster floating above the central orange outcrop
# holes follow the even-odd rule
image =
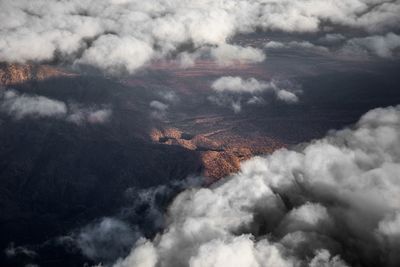
[[[273,80],[265,82],[255,78],[224,76],[215,80],[211,88],[215,94],[209,96],[209,100],[220,106],[231,107],[235,113],[240,112],[243,105],[265,104],[263,93],[271,93],[275,99],[286,104],[299,101],[295,92]]]

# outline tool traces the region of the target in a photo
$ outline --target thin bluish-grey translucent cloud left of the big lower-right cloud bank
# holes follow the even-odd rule
[[[85,257],[110,266],[118,258],[128,256],[136,242],[151,248],[151,243],[147,242],[146,245],[143,236],[152,236],[165,227],[164,212],[172,197],[184,189],[200,187],[204,182],[202,177],[189,176],[145,189],[130,187],[124,192],[125,205],[113,217],[95,220],[46,243],[55,243],[66,251],[80,251]],[[151,257],[147,248],[139,249],[129,255],[124,264],[137,266],[138,262],[143,262],[139,266],[145,266],[146,262],[154,263]]]

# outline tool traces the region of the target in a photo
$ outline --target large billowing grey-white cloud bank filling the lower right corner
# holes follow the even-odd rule
[[[179,194],[114,267],[399,266],[400,106]]]

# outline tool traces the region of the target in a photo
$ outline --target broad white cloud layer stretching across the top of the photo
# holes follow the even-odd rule
[[[398,27],[399,13],[399,1],[384,0],[5,0],[0,61],[56,59],[132,73],[151,60],[207,48],[223,64],[259,62],[261,51],[229,39],[257,29],[317,32],[324,25],[384,32]]]

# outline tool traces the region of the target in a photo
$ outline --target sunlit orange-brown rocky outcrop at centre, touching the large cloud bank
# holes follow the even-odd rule
[[[153,129],[150,138],[155,143],[197,151],[203,165],[203,174],[209,178],[210,183],[239,171],[241,161],[254,155],[272,153],[284,146],[268,137],[248,138],[225,130],[193,135],[171,127]]]

